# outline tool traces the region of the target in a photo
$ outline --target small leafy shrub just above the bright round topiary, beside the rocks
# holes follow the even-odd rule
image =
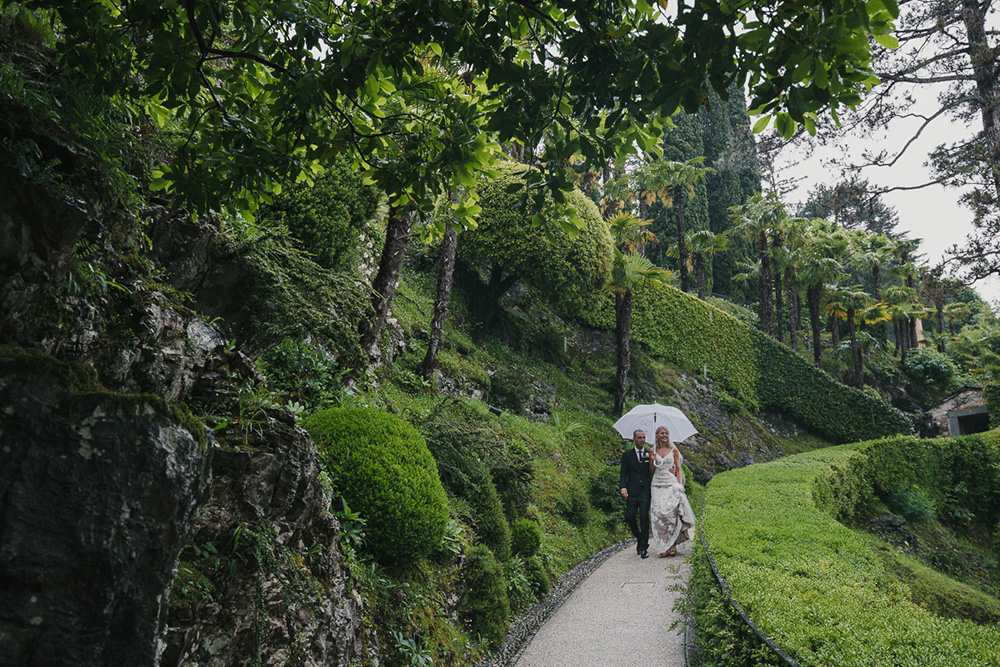
[[[265,352],[259,363],[272,389],[314,408],[339,397],[340,379],[347,370],[321,346],[292,338]]]

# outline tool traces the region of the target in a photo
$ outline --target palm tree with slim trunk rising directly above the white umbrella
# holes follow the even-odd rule
[[[651,282],[666,282],[671,274],[654,265],[643,255],[646,245],[655,242],[646,227],[648,220],[628,214],[619,214],[608,221],[615,241],[614,268],[611,271],[611,289],[615,293],[615,333],[618,369],[615,378],[615,413],[625,409],[625,392],[628,389],[628,371],[632,365],[632,294],[635,289]]]

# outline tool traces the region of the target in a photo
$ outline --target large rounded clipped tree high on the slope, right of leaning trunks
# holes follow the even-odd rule
[[[531,211],[519,206],[521,193],[508,191],[523,183],[517,172],[527,167],[502,167],[500,178],[479,187],[483,212],[479,226],[459,237],[460,257],[487,271],[500,267],[568,314],[589,311],[611,273],[611,235],[597,206],[574,190],[566,201],[583,220],[583,229],[571,236],[555,224],[536,227]]]

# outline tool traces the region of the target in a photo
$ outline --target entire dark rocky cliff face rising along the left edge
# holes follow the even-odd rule
[[[238,412],[255,382],[200,314],[236,317],[246,267],[158,210],[144,256],[96,179],[23,166],[0,150],[0,664],[346,665],[360,613],[315,446],[280,410],[219,442],[185,407]]]

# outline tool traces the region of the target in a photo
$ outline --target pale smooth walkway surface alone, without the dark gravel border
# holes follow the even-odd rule
[[[630,543],[634,544],[634,543]],[[516,667],[683,667],[684,630],[674,602],[691,576],[691,543],[673,558],[643,560],[630,546],[605,560],[513,662]]]

